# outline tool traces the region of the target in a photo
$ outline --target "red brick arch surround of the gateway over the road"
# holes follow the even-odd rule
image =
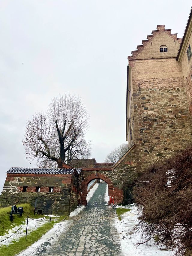
[[[111,181],[111,179],[109,177],[107,177],[106,175],[102,174],[102,173],[97,173],[97,176],[95,175],[95,173],[92,173],[91,175],[87,176],[81,183],[81,204],[82,205],[87,205],[87,185],[88,183],[93,180],[93,179],[102,179],[104,180],[107,185],[108,185],[108,190],[109,190],[109,196],[113,196],[113,182]],[[108,202],[110,204],[110,201]]]

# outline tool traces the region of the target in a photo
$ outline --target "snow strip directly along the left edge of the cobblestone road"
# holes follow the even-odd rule
[[[46,234],[41,236],[41,238],[29,246],[26,250],[17,254],[18,256],[33,256],[33,255],[41,255],[51,244],[58,238],[58,236],[65,232],[67,228],[70,226],[71,221],[61,221],[56,223],[52,229],[50,229]]]

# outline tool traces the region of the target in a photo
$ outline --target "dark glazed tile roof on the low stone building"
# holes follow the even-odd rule
[[[77,168],[81,169],[81,168]],[[23,173],[23,174],[73,174],[75,169],[65,168],[25,168],[25,167],[11,167],[7,173]],[[77,171],[78,172],[78,171]],[[81,170],[80,170],[81,172]],[[80,173],[78,172],[78,173]]]

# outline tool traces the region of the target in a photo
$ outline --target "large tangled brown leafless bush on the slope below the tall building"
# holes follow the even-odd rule
[[[191,255],[192,249],[192,146],[154,164],[140,177],[134,197],[140,207],[135,230],[142,241],[156,238],[157,245],[172,248],[175,255]]]

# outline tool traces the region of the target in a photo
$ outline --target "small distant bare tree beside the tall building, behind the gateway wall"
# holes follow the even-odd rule
[[[105,158],[106,163],[116,163],[128,151],[128,143],[123,143],[113,151],[111,151]]]

